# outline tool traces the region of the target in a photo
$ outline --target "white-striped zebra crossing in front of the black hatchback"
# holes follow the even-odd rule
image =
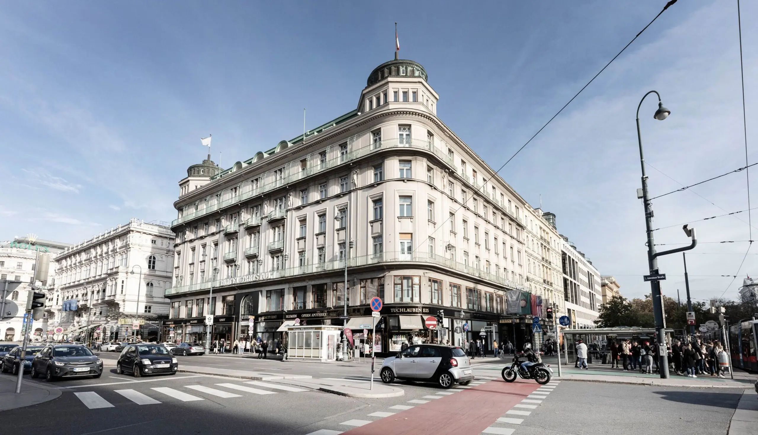
[[[144,392],[132,389],[112,391],[118,395],[116,397],[122,397],[136,405],[159,405],[164,401],[171,399],[179,400],[180,402],[199,402],[205,400],[205,397],[207,396],[212,396],[213,399],[233,399],[245,396],[242,393],[248,393],[248,396],[264,396],[282,392],[302,393],[303,391],[309,390],[289,385],[252,380],[241,383],[215,383],[213,386],[197,384],[176,387],[154,386]],[[114,406],[116,406],[111,402],[108,402],[107,399],[95,391],[79,391],[74,393],[74,396],[76,396],[77,399],[89,409],[114,408]],[[105,394],[105,396],[108,395]]]

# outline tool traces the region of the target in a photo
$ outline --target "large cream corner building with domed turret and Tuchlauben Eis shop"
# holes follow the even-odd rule
[[[381,353],[528,340],[537,310],[522,299],[506,313],[506,293],[562,301],[558,234],[437,118],[427,78],[414,61],[386,62],[356,110],[224,171],[190,167],[174,202],[164,335],[274,349],[298,321],[347,324]],[[374,296],[382,321],[365,337]],[[424,326],[440,313],[442,330]]]

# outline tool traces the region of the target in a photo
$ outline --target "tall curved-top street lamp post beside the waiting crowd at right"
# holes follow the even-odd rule
[[[637,105],[637,143],[640,147],[640,165],[642,167],[642,195],[637,196],[643,199],[645,206],[645,228],[647,232],[647,263],[650,269],[650,275],[658,274],[658,260],[660,255],[673,254],[674,252],[687,251],[697,245],[695,230],[688,229],[684,225],[684,233],[692,238],[691,246],[684,248],[669,249],[669,251],[656,252],[655,242],[653,240],[653,205],[650,202],[650,194],[647,189],[647,175],[645,174],[645,158],[642,152],[642,136],[640,133],[640,108],[647,95],[656,94],[658,96],[658,110],[653,115],[656,120],[665,120],[671,114],[669,109],[663,107],[660,94],[657,91],[650,91],[645,94]],[[653,299],[653,317],[656,325],[656,343],[658,344],[658,371],[661,379],[669,378],[669,357],[666,353],[666,315],[663,312],[663,300],[661,296],[661,286],[659,280],[650,280],[650,293]]]

